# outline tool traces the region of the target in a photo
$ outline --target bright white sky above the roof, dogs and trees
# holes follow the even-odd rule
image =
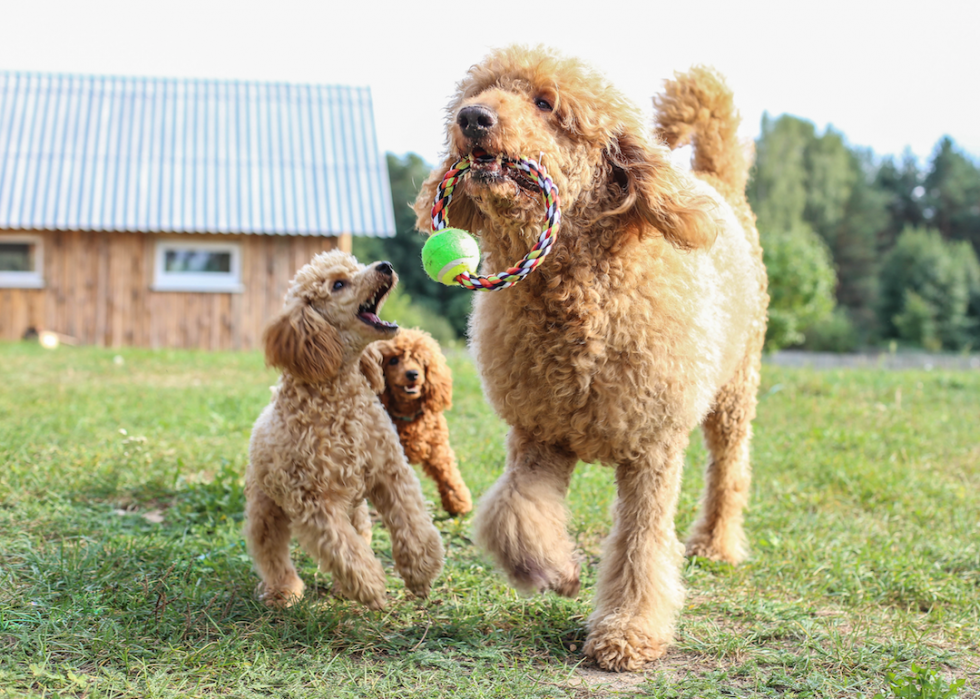
[[[978,0],[0,0],[0,69],[371,88],[379,146],[435,163],[444,108],[491,49],[543,44],[604,73],[652,123],[674,71],[726,76],[763,112],[878,155],[980,157]]]

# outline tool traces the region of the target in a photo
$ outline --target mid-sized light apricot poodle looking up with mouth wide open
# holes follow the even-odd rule
[[[252,430],[245,537],[269,605],[303,596],[291,534],[333,574],[337,594],[384,605],[365,497],[391,532],[395,567],[411,592],[424,597],[442,569],[421,484],[378,400],[380,371],[361,360],[370,342],[398,332],[377,316],[396,280],[387,262],[364,267],[339,250],[321,253],[296,273],[266,328],[266,361],[283,373]]]

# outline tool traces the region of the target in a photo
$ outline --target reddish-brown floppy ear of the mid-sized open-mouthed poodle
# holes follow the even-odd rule
[[[305,301],[286,306],[262,334],[265,361],[304,383],[337,374],[344,348],[336,329]]]

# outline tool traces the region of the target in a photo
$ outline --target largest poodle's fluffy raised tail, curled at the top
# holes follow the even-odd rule
[[[738,140],[741,118],[724,78],[704,66],[676,73],[653,104],[656,135],[671,150],[693,142],[694,172],[744,196],[751,151]]]

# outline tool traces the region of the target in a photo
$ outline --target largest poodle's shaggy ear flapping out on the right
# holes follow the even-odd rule
[[[690,193],[666,152],[622,133],[604,157],[607,190],[600,219],[615,217],[617,228],[635,231],[641,238],[659,232],[683,249],[714,243],[717,233],[706,213],[712,202]]]

